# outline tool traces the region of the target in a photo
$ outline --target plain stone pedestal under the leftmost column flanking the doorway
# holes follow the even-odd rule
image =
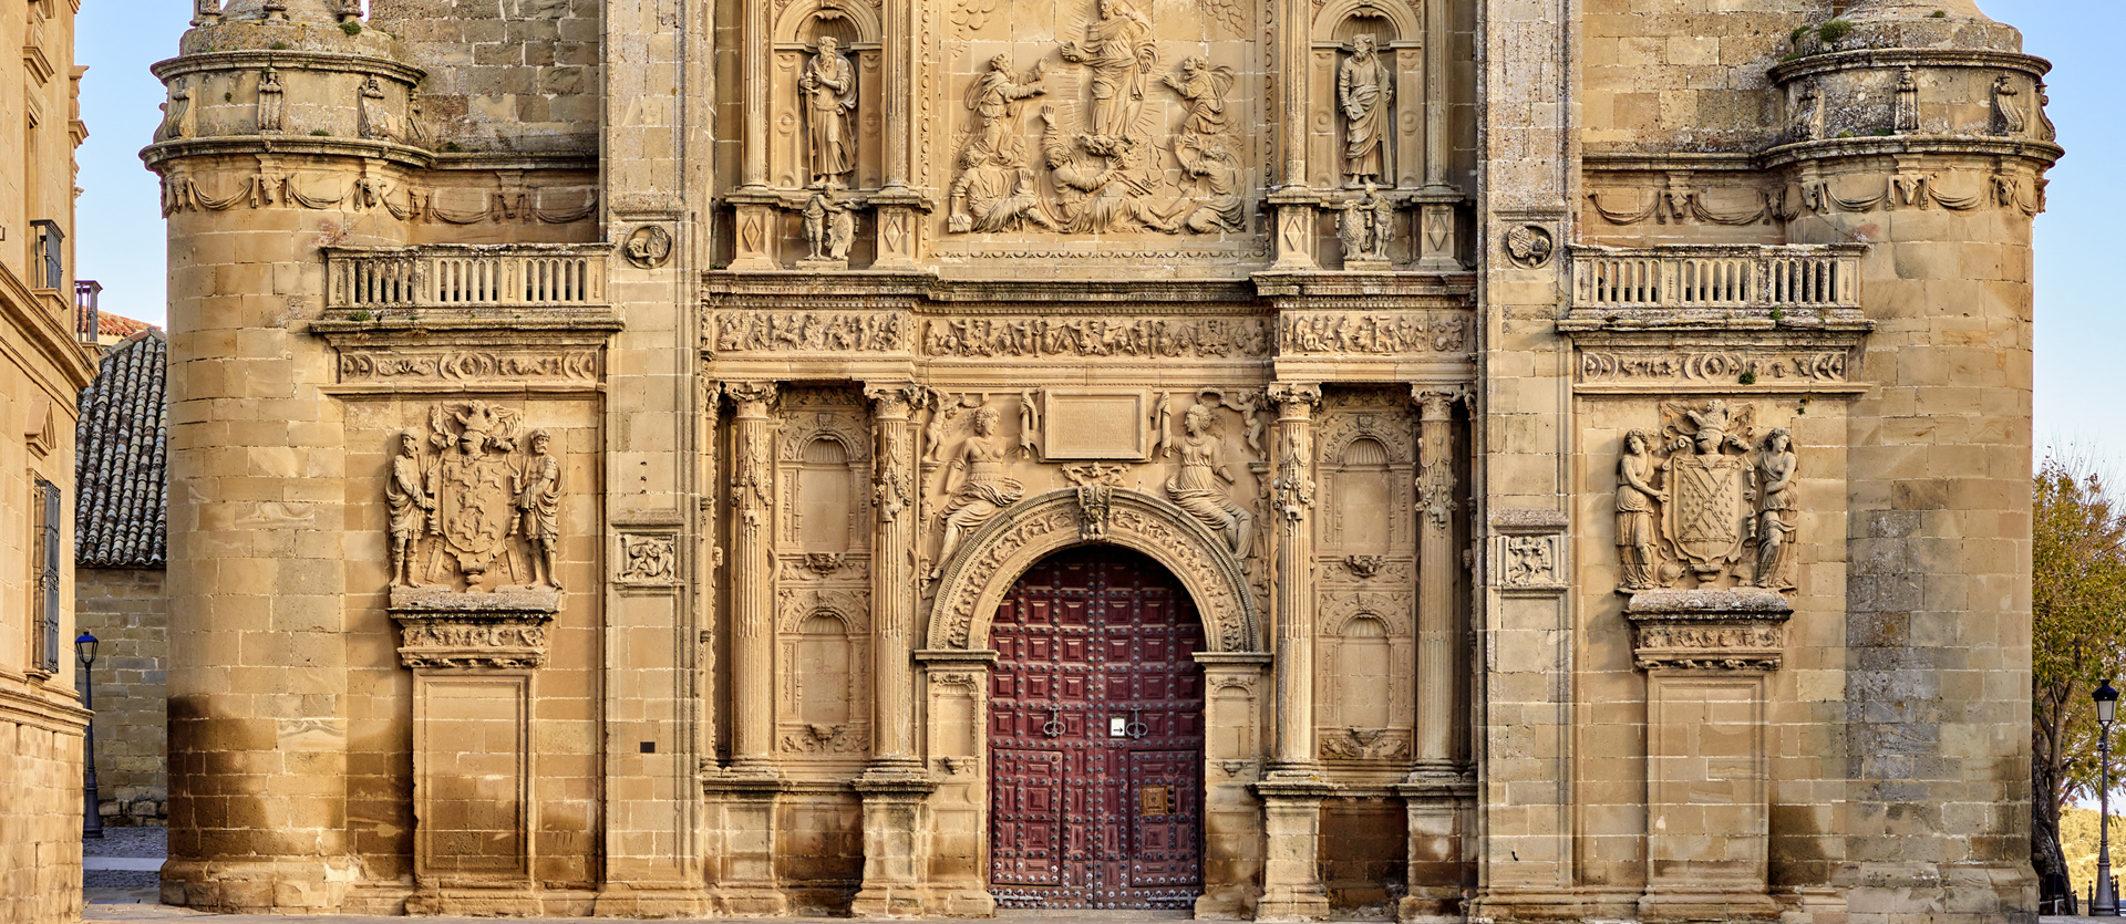
[[[776,797],[782,780],[708,773],[708,894],[723,916],[780,916],[789,896],[776,879]]]

